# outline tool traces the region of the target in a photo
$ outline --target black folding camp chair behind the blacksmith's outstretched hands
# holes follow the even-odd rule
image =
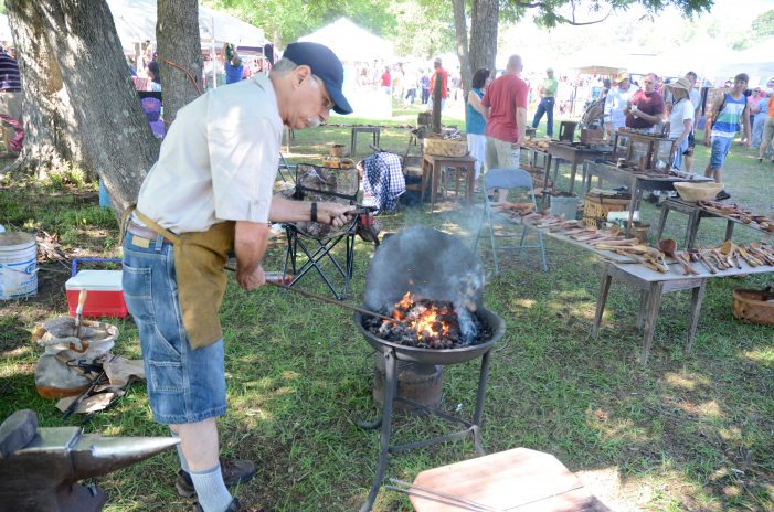
[[[356,204],[360,189],[357,169],[331,169],[308,163],[296,166],[296,186],[293,198],[300,201],[332,201]],[[318,274],[338,300],[349,294],[354,263],[354,235],[359,215],[342,227],[316,222],[284,224],[287,234],[287,249],[283,274],[293,274],[289,286],[295,286],[309,273]],[[333,249],[344,245],[343,263],[341,255]],[[306,260],[299,266],[299,256]],[[314,271],[312,271],[314,270]]]

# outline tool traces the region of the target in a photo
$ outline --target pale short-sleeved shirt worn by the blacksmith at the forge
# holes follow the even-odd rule
[[[173,233],[267,222],[282,134],[265,75],[209,90],[178,111],[137,210]]]

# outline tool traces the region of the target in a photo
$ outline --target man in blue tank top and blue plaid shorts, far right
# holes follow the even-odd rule
[[[750,141],[752,140],[750,116],[748,114],[750,107],[748,106],[748,97],[744,95],[749,79],[744,73],[736,75],[733,88],[730,93],[723,93],[723,100],[718,108],[712,109],[708,118],[708,128],[711,126],[711,131],[708,138],[707,130],[704,130],[704,146],[710,146],[712,152],[710,162],[704,170],[704,175],[713,178],[715,183],[722,183],[723,181],[723,163],[740,125],[744,127],[745,146],[750,149]],[[721,190],[715,199],[722,201],[730,196],[725,190]]]

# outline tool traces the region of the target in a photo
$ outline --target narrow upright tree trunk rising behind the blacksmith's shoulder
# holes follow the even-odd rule
[[[163,84],[166,127],[195,99],[202,83],[199,0],[158,0],[156,40]]]

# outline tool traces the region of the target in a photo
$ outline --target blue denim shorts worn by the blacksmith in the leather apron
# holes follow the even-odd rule
[[[153,418],[179,425],[223,416],[223,340],[191,348],[180,312],[172,244],[126,234],[124,298],[139,328]]]

